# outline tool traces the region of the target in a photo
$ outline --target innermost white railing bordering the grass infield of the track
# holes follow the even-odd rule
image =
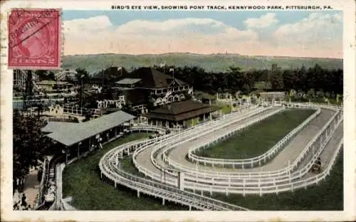
[[[201,157],[194,152],[196,152],[199,149],[205,149],[206,147],[210,147],[211,143],[219,142],[221,139],[225,139],[226,137],[231,136],[231,134],[234,134],[238,132],[241,129],[245,129],[246,127],[249,127],[250,125],[256,124],[256,122],[260,122],[264,120],[266,117],[261,117],[256,121],[251,121],[247,122],[245,125],[242,125],[239,128],[232,129],[229,132],[226,132],[223,135],[220,135],[218,137],[214,137],[214,139],[210,140],[209,142],[204,142],[202,144],[198,144],[195,147],[192,147],[189,149],[188,153],[188,158],[192,162],[197,162],[199,164],[204,164],[204,165],[211,165],[211,166],[226,166],[226,167],[231,167],[231,168],[249,168],[249,167],[254,167],[254,166],[261,166],[261,164],[266,163],[268,159],[271,159],[271,157],[275,157],[276,154],[285,146],[286,143],[292,139],[295,134],[298,134],[308,123],[315,119],[318,115],[320,115],[321,110],[317,109],[316,112],[313,113],[313,115],[310,115],[305,121],[303,121],[298,127],[295,127],[292,131],[290,131],[286,137],[283,137],[277,144],[275,144],[271,149],[268,149],[267,152],[259,155],[258,157],[253,157],[253,158],[248,158],[248,159],[217,159],[217,158],[207,158],[207,157]],[[274,115],[274,113],[272,113]],[[267,116],[269,117],[269,115]]]

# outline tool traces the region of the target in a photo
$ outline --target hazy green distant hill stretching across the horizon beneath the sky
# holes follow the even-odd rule
[[[239,54],[193,54],[193,53],[164,53],[158,55],[125,55],[125,54],[95,54],[63,57],[63,68],[85,68],[90,74],[110,65],[122,66],[127,70],[142,66],[159,65],[199,66],[208,72],[225,72],[230,66],[248,69],[271,68],[272,63],[279,67],[299,68],[305,65],[309,68],[318,63],[323,68],[342,68],[342,59],[337,58],[295,58],[279,56],[241,56]]]

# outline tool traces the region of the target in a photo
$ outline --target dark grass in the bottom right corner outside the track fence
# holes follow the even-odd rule
[[[263,196],[213,194],[211,197],[260,211],[342,211],[343,196],[343,154],[340,152],[330,175],[307,189]]]

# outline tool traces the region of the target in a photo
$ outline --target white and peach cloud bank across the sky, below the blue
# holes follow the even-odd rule
[[[265,20],[261,19],[265,18]],[[241,30],[211,18],[134,20],[114,26],[107,16],[65,21],[65,54],[240,53],[340,57],[340,14],[310,14],[279,28],[275,14],[245,21]],[[271,32],[274,27],[276,31]],[[258,27],[260,27],[258,29]],[[266,34],[269,35],[268,38]],[[264,37],[264,38],[261,38]]]

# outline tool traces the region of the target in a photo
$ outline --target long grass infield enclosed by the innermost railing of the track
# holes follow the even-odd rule
[[[285,110],[252,125],[224,141],[201,149],[201,157],[221,159],[246,159],[256,157],[271,149],[291,130],[310,117],[315,110]]]

